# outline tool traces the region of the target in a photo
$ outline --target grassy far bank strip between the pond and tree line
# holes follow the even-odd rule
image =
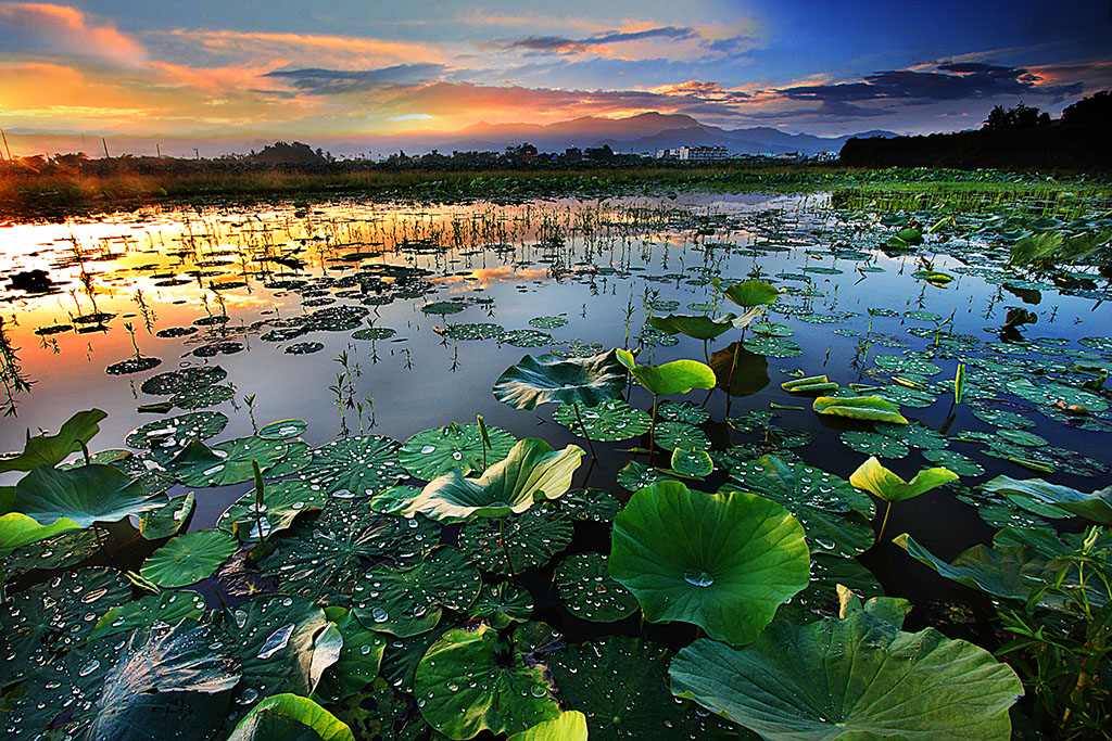
[[[8,167],[0,171],[0,216],[59,219],[76,213],[128,210],[152,203],[221,199],[320,198],[337,194],[416,201],[518,200],[602,197],[679,190],[830,190],[848,208],[986,210],[1016,197],[1048,200],[1108,192],[1106,179],[931,169],[846,169],[804,164],[623,167],[493,171],[383,170],[334,163],[312,168],[244,168],[220,161],[117,162],[66,170]],[[923,199],[931,199],[924,203]]]

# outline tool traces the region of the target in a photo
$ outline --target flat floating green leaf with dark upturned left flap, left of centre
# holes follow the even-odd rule
[[[187,487],[226,487],[250,481],[255,475],[252,462],[267,471],[278,463],[289,450],[281,440],[239,438],[218,442],[209,448],[193,440],[171,461],[171,470]]]

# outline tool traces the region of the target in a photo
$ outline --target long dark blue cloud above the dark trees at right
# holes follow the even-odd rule
[[[845,116],[857,111],[871,116],[871,109],[854,103],[901,100],[907,104],[925,104],[1024,94],[1050,96],[1056,101],[1082,90],[1080,83],[1039,84],[1041,79],[1021,67],[957,62],[940,64],[930,72],[887,70],[866,76],[861,82],[795,86],[776,92],[790,100],[820,102],[825,112]]]

